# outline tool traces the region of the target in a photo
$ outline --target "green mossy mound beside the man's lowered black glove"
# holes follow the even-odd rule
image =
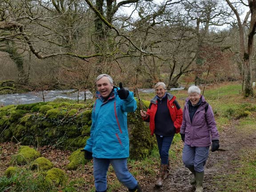
[[[70,161],[66,167],[68,170],[76,170],[80,165],[88,162],[88,160],[86,161],[84,159],[84,152],[81,152],[81,149],[83,148],[76,150],[68,157],[68,160]]]

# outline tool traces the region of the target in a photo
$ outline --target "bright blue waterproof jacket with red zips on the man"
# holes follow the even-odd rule
[[[133,92],[127,99],[121,100],[117,95],[119,88],[114,87],[113,95],[107,101],[97,93],[92,109],[92,126],[90,138],[85,150],[92,152],[96,158],[116,159],[129,157],[129,136],[127,112],[137,108]]]

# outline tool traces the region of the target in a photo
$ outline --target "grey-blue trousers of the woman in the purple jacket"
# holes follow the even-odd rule
[[[187,168],[194,167],[196,172],[203,172],[209,156],[209,147],[190,147],[184,144],[182,160]]]

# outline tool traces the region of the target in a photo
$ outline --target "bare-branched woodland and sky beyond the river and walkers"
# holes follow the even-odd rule
[[[1,91],[94,92],[241,80],[253,96],[256,0],[1,0]]]

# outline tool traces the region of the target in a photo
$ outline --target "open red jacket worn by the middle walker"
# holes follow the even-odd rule
[[[176,133],[180,132],[180,126],[182,124],[182,109],[180,108],[180,105],[176,101],[176,97],[172,94],[166,92],[167,94],[167,105],[168,109],[174,124],[174,127],[176,128]],[[142,117],[144,121],[149,122],[149,128],[151,131],[151,135],[154,134],[155,131],[155,116],[156,116],[156,110],[157,110],[157,97],[155,96],[152,100],[150,100],[150,107],[148,108],[146,117]]]

